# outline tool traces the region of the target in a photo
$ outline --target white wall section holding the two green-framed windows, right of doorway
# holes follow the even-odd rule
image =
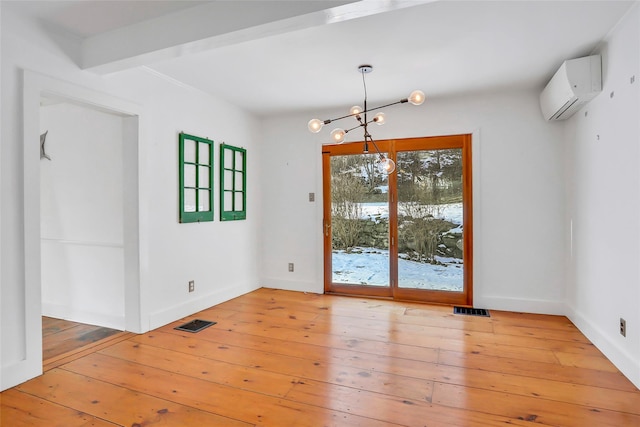
[[[118,77],[119,76],[114,76]],[[198,91],[142,76],[152,129],[149,147],[147,329],[210,307],[259,287],[260,145],[255,119]],[[122,75],[120,84],[130,81]],[[219,221],[219,191],[213,222],[178,223],[178,134],[215,142],[214,187],[219,182],[219,144],[247,149],[247,219]],[[189,280],[196,291],[187,293]]]

